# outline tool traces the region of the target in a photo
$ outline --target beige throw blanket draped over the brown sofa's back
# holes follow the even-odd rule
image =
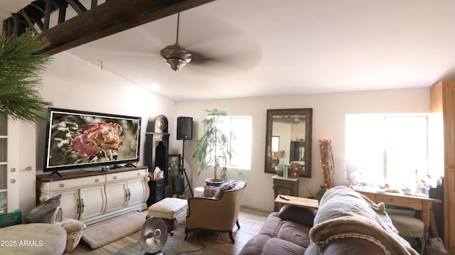
[[[380,246],[385,254],[412,254],[409,242],[398,235],[385,212],[384,203],[376,204],[348,187],[325,192],[310,229],[311,242],[325,246],[333,239],[361,238]]]

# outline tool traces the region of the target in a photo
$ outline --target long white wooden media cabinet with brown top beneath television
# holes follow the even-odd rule
[[[146,210],[148,168],[118,168],[109,172],[62,172],[37,175],[38,203],[61,194],[63,217],[85,224],[134,210]]]

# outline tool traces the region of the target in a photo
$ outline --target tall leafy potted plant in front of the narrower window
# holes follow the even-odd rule
[[[230,148],[230,138],[220,130],[220,124],[223,124],[220,116],[228,116],[228,113],[218,109],[205,110],[205,112],[208,118],[202,121],[204,134],[196,143],[193,159],[199,163],[198,175],[213,166],[213,178],[208,178],[205,182],[210,186],[218,186],[228,180],[226,165],[233,153]],[[231,139],[235,139],[233,134]],[[218,170],[220,170],[220,178],[218,178]],[[237,174],[244,177],[241,170],[237,170]]]

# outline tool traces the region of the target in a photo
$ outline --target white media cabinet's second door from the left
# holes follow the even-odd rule
[[[105,185],[80,189],[79,197],[80,221],[100,216],[105,212]]]

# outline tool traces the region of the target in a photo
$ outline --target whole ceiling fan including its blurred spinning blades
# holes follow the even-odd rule
[[[254,39],[230,23],[220,21],[200,13],[188,13],[188,23],[198,29],[183,33],[180,31],[180,14],[177,13],[176,41],[173,45],[163,44],[160,40],[163,21],[156,21],[134,30],[126,31],[128,36],[118,36],[115,48],[107,48],[105,44],[96,44],[97,48],[85,58],[100,53],[109,54],[112,58],[124,55],[125,59],[132,63],[162,63],[164,59],[173,71],[178,71],[187,66],[188,72],[182,75],[224,75],[232,72],[244,72],[250,70],[259,63],[261,50]],[[186,16],[185,16],[186,17]],[[167,21],[164,21],[167,22]],[[203,29],[200,29],[202,28]],[[169,31],[169,28],[165,28]],[[137,40],[131,41],[132,38]],[[182,38],[188,48],[180,44]],[[129,47],[125,47],[129,45]],[[151,50],[146,50],[150,48]],[[223,49],[223,50],[220,50]],[[95,54],[96,53],[96,54]],[[144,62],[139,62],[144,60]],[[94,60],[96,63],[99,60]],[[142,65],[142,64],[141,64]],[[144,64],[145,65],[145,64]]]

